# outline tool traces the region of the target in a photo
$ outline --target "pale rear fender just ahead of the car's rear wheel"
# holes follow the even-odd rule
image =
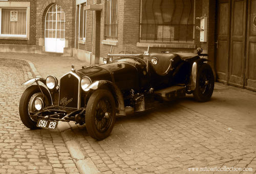
[[[191,74],[190,74],[190,79],[189,79],[189,83],[187,85],[187,89],[189,91],[194,91],[196,89],[196,85],[197,85],[197,72],[199,70],[199,68],[202,66],[203,62],[205,61],[209,61],[206,58],[200,58],[197,59],[193,65],[192,65],[192,69],[191,69]]]

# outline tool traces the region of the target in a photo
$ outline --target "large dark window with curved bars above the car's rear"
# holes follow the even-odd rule
[[[140,42],[194,42],[194,0],[141,0]]]

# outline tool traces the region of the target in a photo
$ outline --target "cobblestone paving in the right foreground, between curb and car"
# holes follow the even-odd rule
[[[188,167],[204,166],[256,169],[251,137],[175,103],[118,118],[103,141],[81,134],[86,133],[83,127],[74,125],[73,130],[84,154],[103,173],[189,173]]]

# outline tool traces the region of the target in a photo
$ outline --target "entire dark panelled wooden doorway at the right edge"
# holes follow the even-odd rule
[[[217,80],[256,91],[256,0],[217,6]]]

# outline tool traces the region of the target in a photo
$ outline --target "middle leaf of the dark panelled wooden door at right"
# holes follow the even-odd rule
[[[246,0],[232,0],[228,84],[244,87]]]

